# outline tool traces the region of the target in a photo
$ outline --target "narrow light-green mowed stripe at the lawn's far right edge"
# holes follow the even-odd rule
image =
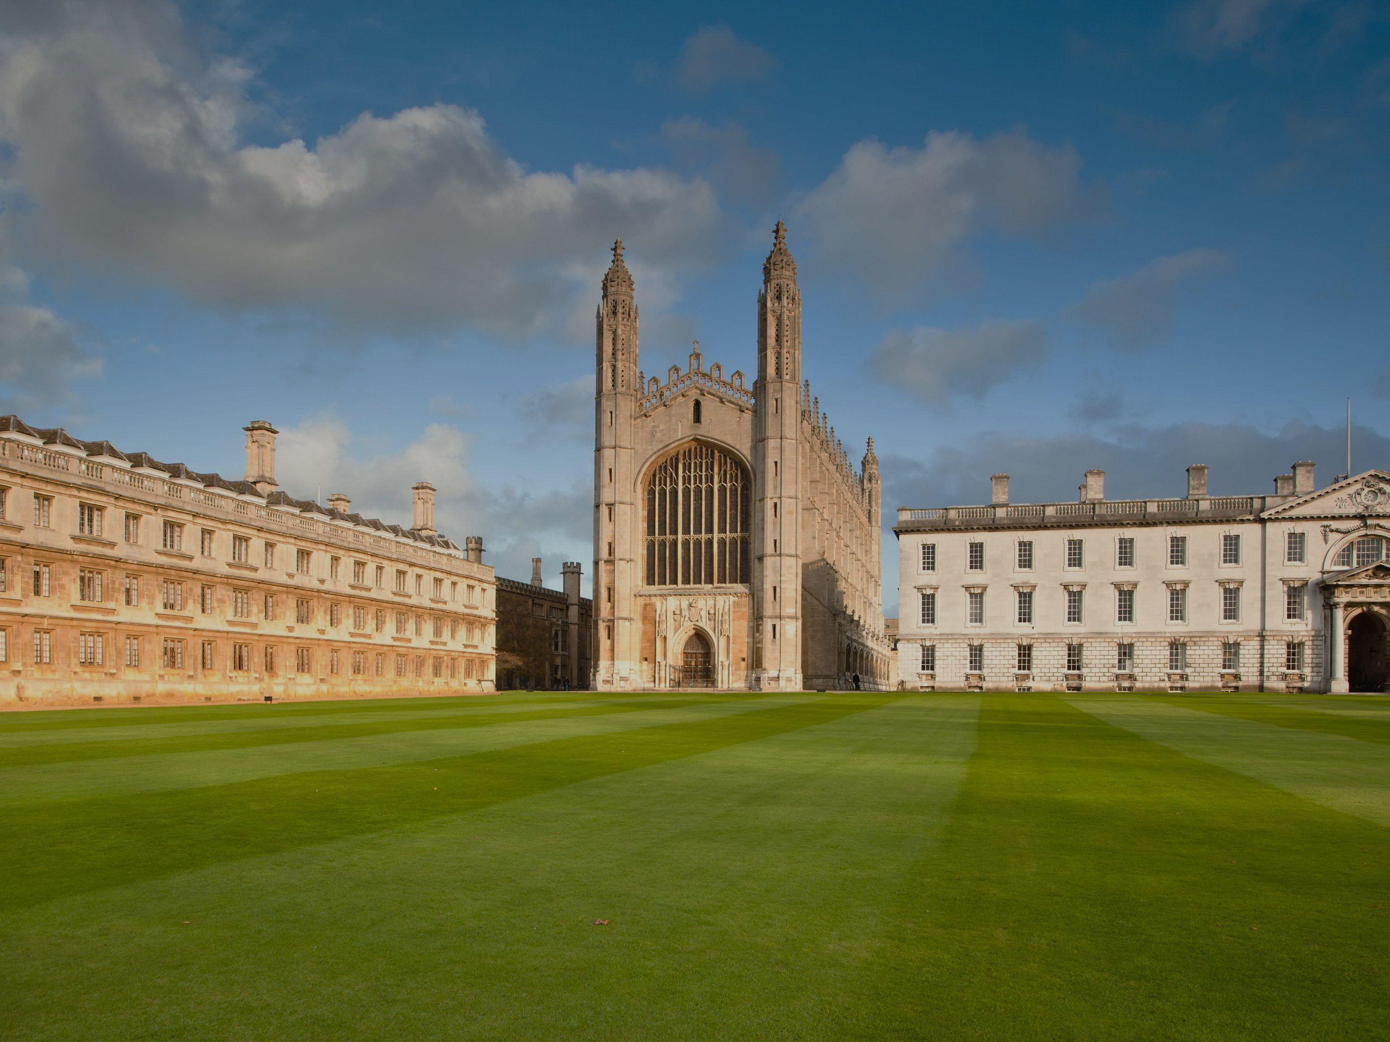
[[[1390,825],[1390,747],[1166,700],[1073,699],[1116,727],[1325,807]],[[1276,720],[1283,720],[1273,710]]]

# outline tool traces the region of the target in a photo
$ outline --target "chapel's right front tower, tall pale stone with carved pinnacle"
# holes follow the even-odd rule
[[[801,290],[778,221],[758,293],[753,686],[801,690]]]

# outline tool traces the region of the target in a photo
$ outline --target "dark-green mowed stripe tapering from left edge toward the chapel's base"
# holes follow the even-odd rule
[[[11,803],[0,807],[0,835],[7,838],[0,846],[0,878],[6,879],[0,907],[25,907],[93,888],[406,828],[587,778],[823,724],[876,703],[862,697],[802,696],[771,707],[746,706],[744,711],[727,711],[730,704],[737,706],[716,703],[703,710],[703,718],[681,722],[652,727],[632,722],[631,729],[617,734],[556,738],[418,763],[281,774],[142,793],[133,799],[121,795],[47,804]],[[624,721],[653,722],[652,717],[660,713],[626,714]],[[695,713],[685,710],[687,717]],[[603,720],[563,722],[592,727]],[[416,732],[410,738],[430,734]],[[128,763],[101,761],[113,770]],[[72,871],[78,864],[82,871]]]

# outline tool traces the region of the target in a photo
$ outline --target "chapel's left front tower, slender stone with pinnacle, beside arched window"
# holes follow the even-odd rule
[[[623,240],[603,276],[596,315],[594,452],[594,627],[595,686],[631,688],[637,678],[635,597],[637,503],[632,422],[639,388],[637,303]]]

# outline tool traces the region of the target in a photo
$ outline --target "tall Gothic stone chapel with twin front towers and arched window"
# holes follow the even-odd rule
[[[778,221],[758,370],[638,371],[623,243],[596,317],[594,686],[867,688],[891,677],[873,439],[856,470],[801,371],[801,290]]]

